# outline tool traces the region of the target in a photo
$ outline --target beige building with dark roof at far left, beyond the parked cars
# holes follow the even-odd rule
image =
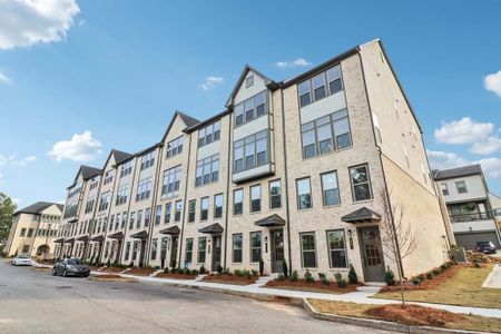
[[[29,254],[51,258],[61,214],[61,204],[48,202],[37,202],[13,213],[4,250],[7,256]]]

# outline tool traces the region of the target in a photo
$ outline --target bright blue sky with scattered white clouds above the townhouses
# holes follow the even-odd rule
[[[0,0],[0,191],[62,200],[174,110],[222,111],[245,63],[282,80],[379,37],[433,165],[480,161],[501,194],[501,2],[481,3]]]

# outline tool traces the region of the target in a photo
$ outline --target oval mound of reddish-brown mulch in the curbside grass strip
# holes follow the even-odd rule
[[[405,308],[402,308],[400,304],[389,304],[370,308],[365,313],[381,320],[409,326],[444,327],[448,323],[464,320],[460,314],[420,305],[406,305]]]

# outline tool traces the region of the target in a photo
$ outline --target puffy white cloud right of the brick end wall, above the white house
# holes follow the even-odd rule
[[[470,117],[451,122],[442,121],[434,131],[436,140],[445,144],[472,144],[488,138],[494,129],[492,122],[477,122]]]

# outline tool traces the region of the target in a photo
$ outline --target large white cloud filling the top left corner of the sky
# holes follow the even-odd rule
[[[60,41],[79,12],[75,0],[0,0],[0,49]]]

